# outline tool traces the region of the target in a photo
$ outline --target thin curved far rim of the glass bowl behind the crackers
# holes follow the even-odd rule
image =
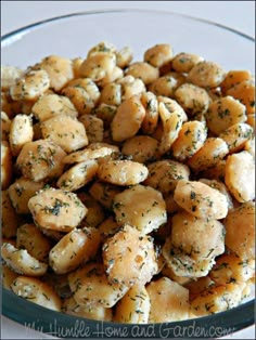
[[[14,29],[10,32],[7,32],[5,35],[1,36],[1,48],[4,48],[4,43],[8,43],[8,39],[13,38],[15,35],[20,35],[20,34],[27,34],[33,29],[36,29],[39,26],[43,26],[47,25],[49,23],[55,22],[55,21],[62,21],[62,19],[66,19],[66,18],[71,18],[71,17],[76,17],[76,16],[84,16],[84,15],[93,15],[93,14],[113,14],[113,13],[148,13],[148,14],[169,14],[169,15],[174,15],[174,16],[178,16],[178,17],[182,17],[182,18],[187,18],[187,19],[191,19],[194,22],[200,22],[200,23],[204,23],[206,25],[209,26],[216,26],[218,28],[222,28],[225,30],[228,30],[230,32],[233,32],[235,35],[239,35],[252,42],[255,42],[255,38],[244,34],[235,28],[229,27],[227,25],[222,25],[219,24],[215,21],[209,21],[209,19],[205,19],[202,17],[196,17],[193,15],[189,15],[189,14],[183,14],[183,13],[179,13],[179,12],[175,12],[175,11],[164,11],[164,10],[148,10],[148,9],[103,9],[103,10],[92,10],[92,11],[78,11],[78,12],[73,12],[73,13],[68,13],[68,14],[63,14],[63,15],[56,15],[56,16],[52,16],[36,23],[31,23],[29,25],[20,27],[17,29]]]

